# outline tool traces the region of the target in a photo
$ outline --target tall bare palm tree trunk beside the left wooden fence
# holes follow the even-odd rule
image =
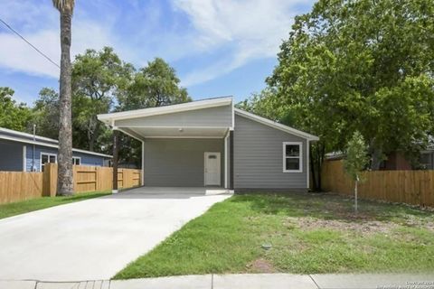
[[[71,121],[71,18],[74,0],[52,0],[61,13],[61,79],[60,129],[57,195],[74,192],[72,175],[72,121]]]

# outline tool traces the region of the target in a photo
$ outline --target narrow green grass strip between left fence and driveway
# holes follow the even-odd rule
[[[33,200],[23,200],[0,205],[0,219],[27,213],[33,210],[41,210],[54,206],[59,206],[79,200],[88,200],[92,198],[108,195],[109,191],[92,191],[78,193],[71,197],[43,197]]]

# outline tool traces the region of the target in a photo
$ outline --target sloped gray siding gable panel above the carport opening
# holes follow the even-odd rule
[[[232,107],[212,107],[116,121],[116,126],[232,126]]]

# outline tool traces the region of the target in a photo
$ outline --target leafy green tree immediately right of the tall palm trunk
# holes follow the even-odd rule
[[[72,67],[72,117],[75,144],[91,152],[107,128],[97,119],[108,113],[114,95],[131,79],[133,67],[124,63],[110,47],[101,51],[87,50],[77,55]]]

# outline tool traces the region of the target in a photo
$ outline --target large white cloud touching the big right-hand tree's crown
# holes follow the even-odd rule
[[[231,46],[223,60],[193,71],[185,86],[217,78],[249,61],[275,57],[288,33],[299,4],[306,0],[174,0],[196,30],[196,46],[216,51]],[[311,1],[309,1],[311,2]]]

